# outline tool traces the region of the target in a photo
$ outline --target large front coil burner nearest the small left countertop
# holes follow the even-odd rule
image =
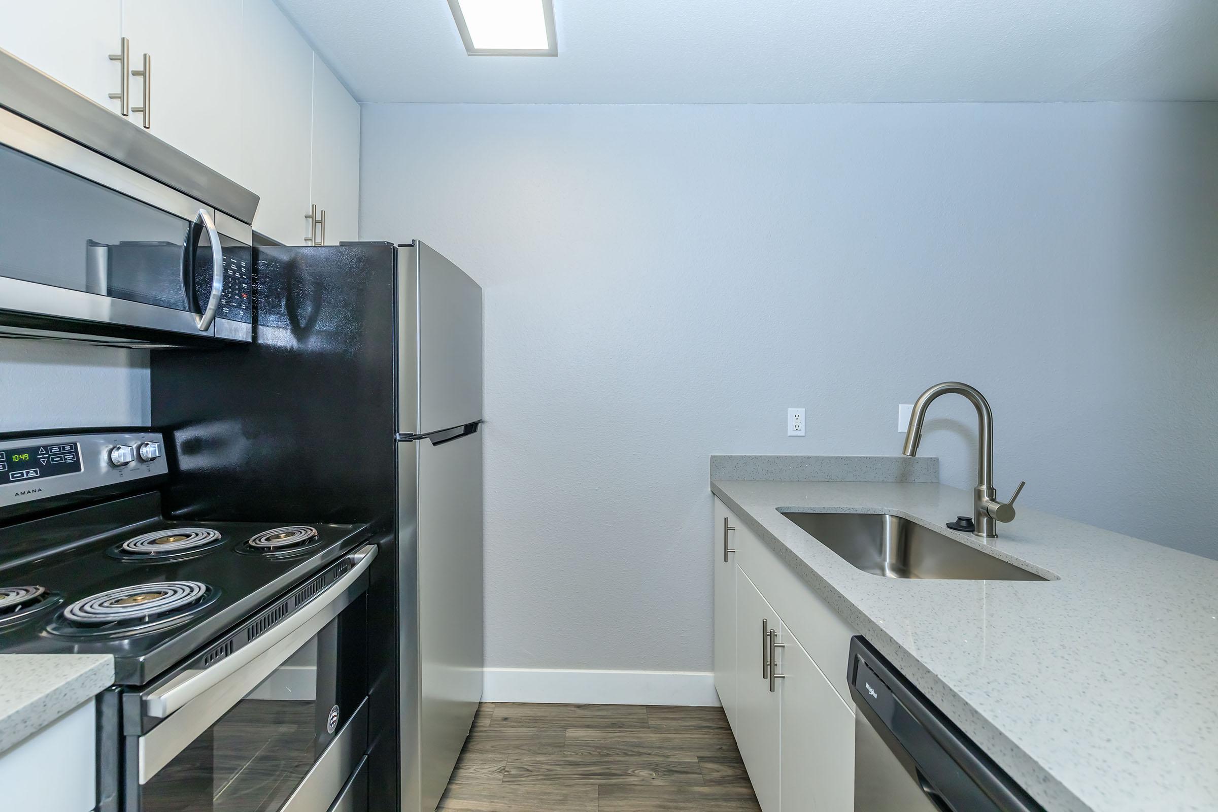
[[[166,581],[110,589],[67,606],[48,628],[66,635],[144,634],[174,626],[216,599],[197,581]]]

